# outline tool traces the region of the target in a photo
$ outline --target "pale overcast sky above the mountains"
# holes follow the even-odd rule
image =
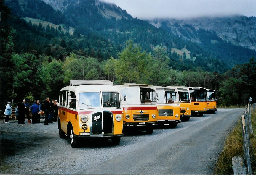
[[[104,0],[132,17],[191,18],[241,14],[256,17],[256,0]]]

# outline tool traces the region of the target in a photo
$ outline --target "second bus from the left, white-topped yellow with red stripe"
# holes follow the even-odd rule
[[[157,125],[156,89],[152,85],[124,84],[116,85],[121,92],[123,105],[123,127],[145,130],[153,133]]]

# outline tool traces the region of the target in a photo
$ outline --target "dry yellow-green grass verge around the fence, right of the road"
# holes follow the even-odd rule
[[[253,134],[250,134],[250,141],[252,146],[251,165],[252,174],[256,174],[256,112],[252,113],[252,128]],[[226,138],[222,153],[217,160],[214,168],[214,174],[234,174],[232,167],[232,158],[236,155],[244,157],[243,136],[241,129],[241,119],[234,127],[231,134]]]

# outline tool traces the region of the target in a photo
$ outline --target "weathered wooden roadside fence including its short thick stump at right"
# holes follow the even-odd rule
[[[256,103],[247,104],[246,109],[244,111],[244,115],[241,116],[241,124],[242,124],[242,135],[244,141],[244,158],[241,156],[235,156],[232,158],[232,165],[234,174],[252,174],[252,166],[251,166],[251,142],[249,138],[249,132],[253,134],[252,130],[252,120],[251,114],[252,111],[255,112]],[[245,164],[244,164],[245,160]]]

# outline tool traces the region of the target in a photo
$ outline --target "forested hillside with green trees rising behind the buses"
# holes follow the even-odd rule
[[[113,5],[81,2],[62,13],[41,0],[8,0],[6,5],[1,1],[1,110],[7,101],[58,99],[59,90],[69,80],[201,86],[217,90],[222,105],[242,104],[248,95],[255,99],[254,59],[226,72],[232,59],[233,64],[244,63],[254,51],[248,54],[248,49],[224,43],[214,32],[196,30],[200,40],[209,44],[204,47],[134,19]],[[111,9],[118,11],[108,16]],[[33,24],[24,17],[40,22]],[[49,22],[46,27],[45,21]],[[68,32],[70,27],[74,27],[73,35]],[[216,42],[209,40],[220,44],[214,46]],[[225,44],[234,50],[233,57],[220,49]],[[190,59],[185,52],[172,51],[184,47]],[[250,83],[244,85],[244,81]]]

